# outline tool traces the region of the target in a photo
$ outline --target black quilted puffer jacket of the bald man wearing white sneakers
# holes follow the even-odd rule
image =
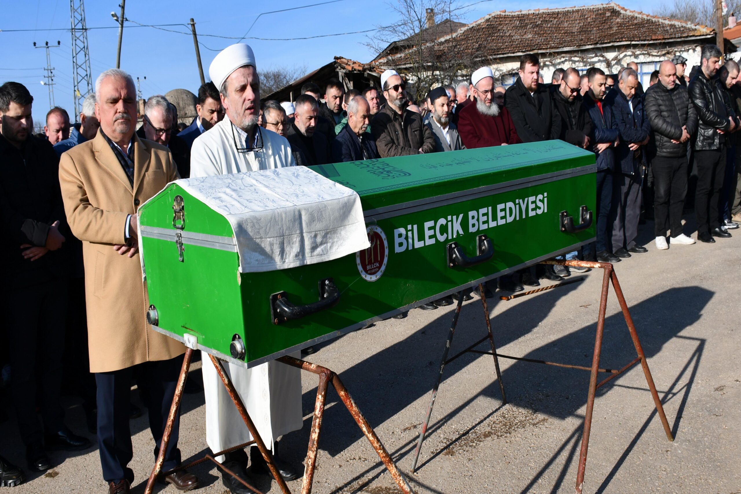
[[[672,142],[682,138],[682,127],[687,127],[690,136],[697,133],[697,111],[691,104],[687,88],[675,84],[671,90],[661,82],[649,87],[643,101],[648,122],[654,131],[651,145],[652,156],[679,158],[686,156],[687,142]]]

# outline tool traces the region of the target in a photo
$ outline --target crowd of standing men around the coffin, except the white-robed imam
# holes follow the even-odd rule
[[[546,85],[533,54],[522,56],[511,87],[496,86],[491,69],[481,67],[470,81],[431,89],[419,104],[411,101],[405,80],[394,70],[382,74],[381,87],[362,91],[345,90],[335,80],[325,87],[307,83],[296,101],[263,101],[256,121],[268,132],[245,133],[245,145],[262,139],[282,150],[273,160],[316,165],[561,139],[594,152],[597,161],[597,240],[581,253],[565,256],[617,262],[647,252],[637,243],[642,215],[654,216],[658,250],[694,244],[682,224],[688,198],[694,204],[697,240],[713,243],[739,227],[740,70],[730,60],[721,66],[721,58],[718,47],[702,47],[701,64],[691,77],[684,76],[682,57],[662,61],[645,91],[635,62],[614,75],[596,67],[583,74],[561,68]],[[240,129],[252,129],[230,116],[237,100],[226,82],[245,77],[245,87],[254,86],[259,104],[256,69],[247,70],[254,66],[251,50],[247,59],[238,67],[244,73],[231,69],[219,87],[208,82],[199,88],[198,116],[182,130],[175,107],[164,96],[147,100],[142,127],[136,130],[136,92],[130,76],[120,70],[99,77],[96,93],[84,101],[79,124],[70,125],[62,108],[50,110],[42,137],[32,134],[33,97],[27,88],[16,82],[0,86],[0,160],[6,164],[0,208],[7,232],[0,248],[4,272],[14,287],[2,299],[0,324],[7,344],[0,349],[8,350],[0,355],[0,364],[11,371],[10,395],[30,470],[52,466],[48,450],[92,445],[64,425],[59,406],[63,375],[70,391],[84,400],[90,433],[99,435],[110,493],[128,492],[133,481],[126,467],[132,455],[126,438],[129,418],[140,411],[130,402],[132,379],[142,390],[159,445],[182,350],[165,336],[150,344],[147,338],[153,336],[141,317],[130,321],[133,332],[117,335],[119,341],[102,335],[108,334],[106,324],[130,317],[122,312],[122,300],[144,299],[139,264],[130,261],[136,255],[136,208],[168,181],[190,176],[192,152],[198,173],[204,173],[199,153],[218,140],[225,113]],[[209,139],[194,146],[205,133]],[[87,141],[92,144],[80,146]],[[239,166],[262,169],[253,158],[240,159],[247,161]],[[99,174],[101,166],[110,170],[105,178]],[[151,166],[156,169],[142,171]],[[691,178],[694,195],[688,197]],[[102,244],[112,245],[115,253],[95,250]],[[125,290],[106,293],[103,273],[107,280],[125,278]],[[538,278],[558,281],[569,275],[562,266],[526,269],[500,278],[499,288],[519,291],[523,284],[539,284]],[[421,308],[451,303],[447,297]],[[95,318],[90,310],[96,311]],[[127,353],[119,360],[110,358],[106,349],[111,345]],[[173,444],[176,433],[165,458],[168,467],[180,461]],[[233,461],[246,465],[246,457]],[[288,465],[280,473],[296,478]],[[22,475],[21,468],[0,457],[0,487],[19,484]],[[198,485],[185,471],[162,481],[179,490]],[[235,485],[227,487],[241,492]]]

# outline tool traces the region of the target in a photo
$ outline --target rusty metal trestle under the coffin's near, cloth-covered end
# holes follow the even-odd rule
[[[219,461],[216,461],[215,457],[222,455],[224,453],[229,453],[230,451],[237,450],[242,447],[246,447],[250,444],[256,444],[258,449],[260,450],[260,453],[262,453],[262,457],[265,458],[265,461],[268,463],[268,467],[270,468],[270,473],[273,474],[273,478],[276,479],[276,482],[278,482],[278,485],[280,487],[280,490],[283,494],[290,494],[290,490],[288,490],[288,486],[285,484],[285,481],[283,480],[282,476],[278,472],[278,469],[276,468],[275,463],[273,462],[273,456],[270,454],[270,450],[268,450],[267,447],[265,447],[265,443],[262,441],[262,438],[260,437],[257,428],[255,427],[255,424],[253,424],[253,421],[250,418],[250,415],[247,413],[247,410],[245,409],[245,405],[242,403],[242,398],[239,397],[239,394],[237,394],[236,390],[234,389],[233,384],[231,383],[229,376],[224,370],[224,367],[222,365],[222,361],[220,361],[218,358],[209,355],[209,358],[213,362],[213,366],[216,367],[216,373],[219,374],[219,377],[222,379],[222,383],[227,388],[227,392],[230,395],[230,398],[232,398],[232,401],[234,402],[234,405],[237,407],[237,410],[239,410],[239,415],[242,415],[242,420],[245,421],[245,424],[247,425],[247,429],[250,431],[250,435],[253,437],[253,441],[250,441],[245,444],[239,444],[238,446],[231,447],[228,450],[220,451],[219,453],[215,453],[213,455],[205,455],[203,458],[193,461],[190,464],[187,465],[181,465],[180,467],[177,467],[173,470],[169,470],[167,472],[162,472],[162,464],[165,461],[165,451],[167,450],[167,444],[170,441],[170,433],[172,432],[173,427],[173,421],[176,418],[176,415],[178,413],[179,407],[180,407],[180,401],[182,399],[182,393],[183,389],[185,387],[185,378],[187,377],[188,370],[190,369],[190,359],[193,356],[193,350],[188,348],[185,351],[185,358],[183,359],[183,366],[180,371],[180,376],[178,378],[178,384],[175,390],[175,396],[173,397],[173,404],[172,407],[170,407],[170,415],[167,416],[167,425],[165,427],[165,433],[162,435],[162,444],[159,447],[159,455],[157,456],[156,464],[154,465],[154,468],[152,469],[152,473],[149,477],[149,480],[147,481],[147,487],[146,490],[144,490],[145,494],[151,494],[154,482],[158,478],[158,476],[165,476],[170,475],[170,473],[174,473],[178,470],[183,470],[185,468],[192,467],[193,465],[202,463],[204,461],[210,460],[213,461],[219,468],[224,470],[225,474],[232,475],[234,478],[236,478],[239,482],[241,482],[245,487],[252,490],[255,493],[261,494],[259,490],[256,489],[256,487],[251,486],[250,484],[247,484],[247,482],[243,481],[242,478],[239,478],[236,476],[233,472],[230,470],[227,470],[227,468],[224,467]],[[348,408],[348,411],[350,412],[350,415],[353,415],[353,418],[355,419],[356,423],[358,424],[358,427],[360,427],[360,430],[362,430],[362,433],[365,435],[366,438],[368,438],[368,441],[371,442],[371,446],[373,446],[373,449],[376,450],[376,453],[378,453],[379,458],[381,458],[381,461],[385,465],[385,467],[388,469],[388,472],[391,473],[391,477],[393,478],[393,481],[396,482],[396,485],[399,486],[399,489],[402,490],[402,493],[404,494],[413,494],[413,490],[411,489],[410,485],[408,484],[406,478],[402,473],[399,471],[399,469],[396,467],[396,464],[393,462],[393,459],[391,458],[391,455],[388,454],[388,451],[386,451],[386,448],[381,443],[381,440],[376,435],[375,431],[373,431],[373,427],[371,427],[371,424],[368,424],[368,421],[365,419],[365,417],[360,412],[359,408],[355,404],[355,401],[353,400],[352,396],[350,396],[350,393],[348,393],[347,388],[345,388],[345,385],[342,384],[342,381],[340,380],[339,376],[333,373],[332,370],[329,370],[326,367],[322,367],[320,365],[311,364],[310,362],[299,360],[298,358],[293,357],[281,357],[277,359],[278,361],[282,362],[283,364],[290,365],[292,367],[297,367],[301,370],[305,370],[307,372],[319,375],[319,386],[316,390],[316,402],[314,404],[314,413],[313,413],[313,421],[311,423],[311,432],[309,435],[309,446],[308,451],[306,454],[306,465],[304,470],[304,484],[302,486],[302,494],[309,494],[311,492],[311,486],[313,483],[314,478],[314,470],[316,468],[316,453],[319,448],[319,433],[322,430],[322,421],[324,418],[324,412],[325,412],[325,402],[327,398],[327,390],[328,386],[331,383],[334,387],[334,389],[337,391],[337,394],[339,395],[339,398],[342,400],[342,403],[345,404],[345,407]]]

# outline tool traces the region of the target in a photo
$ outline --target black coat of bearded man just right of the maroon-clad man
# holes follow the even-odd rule
[[[559,138],[561,119],[554,113],[551,93],[543,84],[538,84],[538,89],[531,95],[518,77],[505,92],[505,106],[522,142]]]

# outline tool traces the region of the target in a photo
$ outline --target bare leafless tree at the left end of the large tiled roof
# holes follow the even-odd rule
[[[406,76],[411,96],[419,99],[434,85],[451,84],[456,73],[468,69],[456,58],[455,44],[440,41],[462,27],[456,1],[396,0],[387,6],[391,23],[379,26],[365,45],[379,53],[382,67]]]

